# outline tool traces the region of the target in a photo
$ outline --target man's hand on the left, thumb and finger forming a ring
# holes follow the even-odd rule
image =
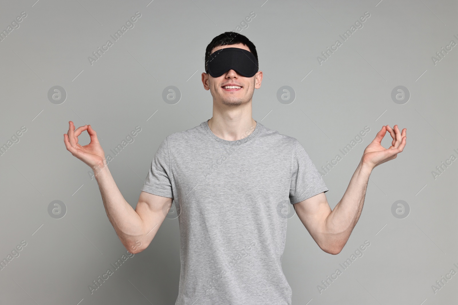
[[[76,158],[80,159],[93,170],[104,167],[104,150],[100,143],[98,143],[97,134],[91,125],[84,125],[76,128],[72,121],[68,122],[68,133],[64,134],[64,143],[68,151],[71,152]],[[84,131],[91,137],[91,142],[87,145],[81,146],[78,144],[78,136]]]

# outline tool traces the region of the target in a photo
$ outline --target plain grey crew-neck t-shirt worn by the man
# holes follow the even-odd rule
[[[151,162],[142,191],[180,214],[175,305],[291,305],[285,213],[328,189],[297,139],[259,122],[250,133],[224,140],[205,121],[165,138]]]

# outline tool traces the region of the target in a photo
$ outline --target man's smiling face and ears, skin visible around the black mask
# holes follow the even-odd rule
[[[250,48],[242,43],[228,44],[213,48],[210,54],[222,48],[242,48],[250,51]],[[262,71],[256,72],[252,77],[239,75],[235,70],[229,70],[219,77],[213,77],[208,73],[202,73],[202,83],[205,90],[210,90],[213,101],[226,106],[239,106],[242,103],[251,102],[253,92],[261,88]],[[226,86],[240,86],[238,89],[226,89]]]

